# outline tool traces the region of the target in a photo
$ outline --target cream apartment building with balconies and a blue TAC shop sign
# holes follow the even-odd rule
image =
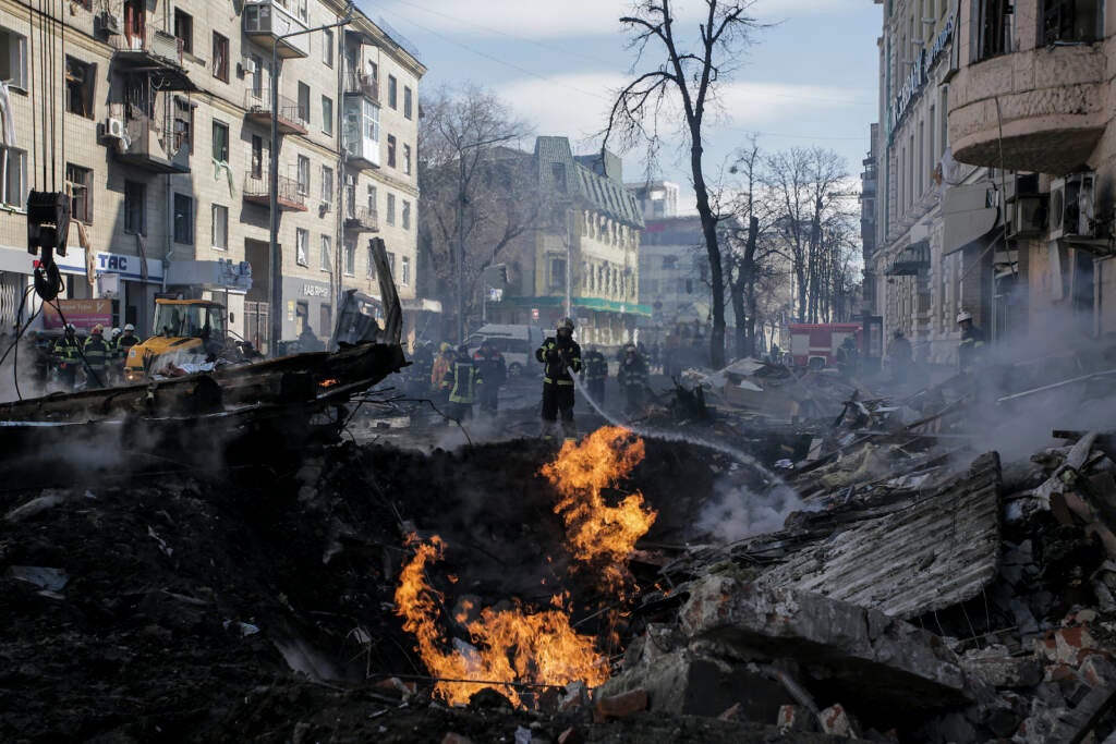
[[[84,233],[71,224],[70,250],[57,260],[62,297],[108,298],[114,325],[142,334],[154,297],[171,293],[223,302],[230,330],[264,350],[275,312],[281,340],[306,327],[325,339],[344,290],[378,293],[374,233],[392,253],[404,303],[421,306],[415,157],[425,68],[397,35],[359,11],[340,25],[348,11],[339,0],[64,4],[0,4],[3,117],[12,124],[0,211],[6,327],[31,279],[29,190],[68,192]]]

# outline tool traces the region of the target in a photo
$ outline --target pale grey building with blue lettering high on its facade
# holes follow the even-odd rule
[[[956,45],[966,31],[950,0],[875,1],[884,6],[882,124],[874,143],[876,248],[866,263],[875,287],[865,293],[874,294],[885,338],[901,329],[918,359],[951,363],[958,312],[981,325],[990,312],[997,224],[988,170],[954,162],[945,126]]]

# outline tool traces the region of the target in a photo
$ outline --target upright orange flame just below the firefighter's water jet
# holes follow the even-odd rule
[[[620,426],[605,426],[580,443],[566,442],[541,473],[561,496],[555,513],[566,522],[574,557],[600,569],[604,587],[622,597],[631,583],[627,558],[636,541],[655,523],[657,512],[644,506],[638,491],[615,506],[600,492],[616,487],[644,457],[644,443]]]

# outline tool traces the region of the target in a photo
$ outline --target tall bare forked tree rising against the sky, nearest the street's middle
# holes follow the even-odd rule
[[[671,116],[681,106],[683,134],[690,144],[690,172],[698,197],[702,235],[709,255],[712,289],[712,328],[710,364],[724,365],[724,271],[718,236],[718,214],[710,204],[702,163],[702,126],[715,98],[715,88],[731,71],[740,49],[759,28],[748,15],[750,0],[702,0],[704,19],[699,23],[699,39],[691,49],[675,32],[676,18],[671,0],[642,0],[620,23],[634,33],[629,47],[636,50],[635,79],[617,95],[605,131],[604,148],[612,136],[624,146],[646,142],[648,161],[657,154],[661,137],[660,117]],[[652,69],[639,71],[646,58]]]

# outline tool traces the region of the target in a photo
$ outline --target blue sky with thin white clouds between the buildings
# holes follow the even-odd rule
[[[683,28],[696,29],[701,0],[676,0]],[[500,95],[535,134],[566,135],[579,153],[599,145],[612,91],[634,61],[617,19],[627,0],[364,0],[417,48],[429,68],[420,90],[473,81]],[[876,119],[881,6],[872,0],[757,0],[772,26],[756,36],[722,84],[722,110],[706,124],[706,172],[749,133],[767,151],[819,145],[858,174]],[[660,177],[677,182],[692,211],[687,154],[663,151]],[[643,177],[642,153],[624,153],[625,180]]]

